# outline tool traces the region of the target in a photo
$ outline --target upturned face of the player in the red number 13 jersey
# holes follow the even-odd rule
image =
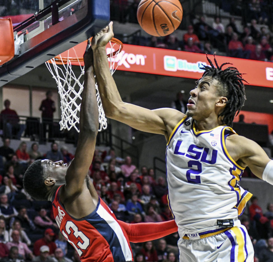
[[[58,182],[65,182],[65,175],[68,167],[62,160],[53,162],[45,159],[42,160],[42,165],[44,166],[46,172],[49,173],[50,177],[58,180]]]

